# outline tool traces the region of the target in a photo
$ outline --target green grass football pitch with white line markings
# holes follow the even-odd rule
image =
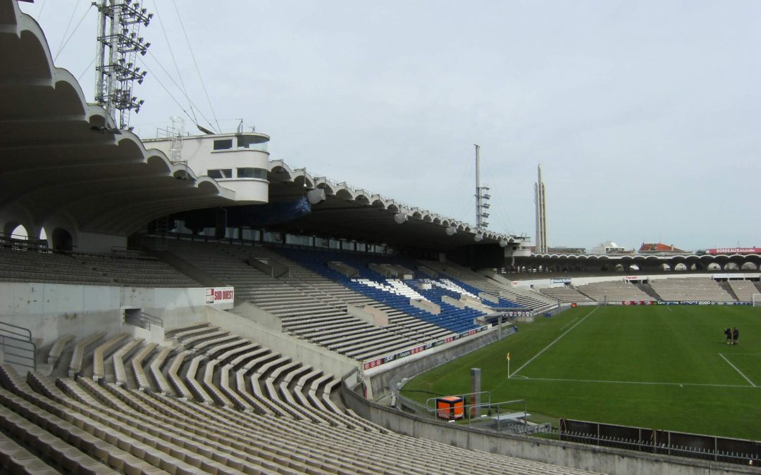
[[[724,328],[740,330],[729,346]],[[557,418],[761,439],[761,309],[578,307],[413,378],[407,397],[470,392],[482,370],[492,403],[525,399]],[[511,354],[508,378],[507,353]]]

